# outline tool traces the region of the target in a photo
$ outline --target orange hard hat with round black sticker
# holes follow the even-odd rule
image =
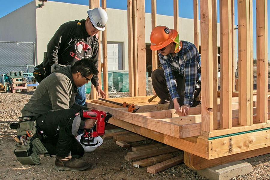
[[[166,26],[157,26],[150,35],[150,48],[154,51],[162,49],[173,42],[177,35],[178,32],[174,29],[169,29]]]

